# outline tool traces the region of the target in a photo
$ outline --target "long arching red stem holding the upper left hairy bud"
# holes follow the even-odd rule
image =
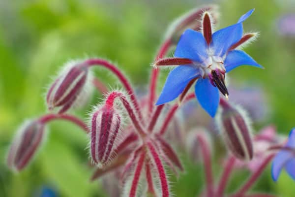
[[[126,89],[127,93],[130,95],[130,99],[131,99],[132,103],[134,104],[135,111],[136,111],[140,121],[143,123],[143,116],[140,111],[138,100],[134,94],[134,90],[132,89],[132,86],[130,85],[127,78],[118,69],[118,67],[114,66],[110,62],[103,60],[103,59],[89,59],[84,62],[84,65],[87,67],[104,66],[105,68],[108,68],[110,71],[112,71],[118,77],[118,79],[121,81],[121,83],[124,86],[124,88]]]

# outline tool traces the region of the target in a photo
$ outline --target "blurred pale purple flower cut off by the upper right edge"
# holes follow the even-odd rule
[[[295,36],[295,13],[280,17],[277,26],[281,35]]]

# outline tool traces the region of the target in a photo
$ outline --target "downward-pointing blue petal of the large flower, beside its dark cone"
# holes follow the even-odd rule
[[[198,79],[195,86],[195,94],[200,105],[213,118],[219,104],[219,91],[214,87],[208,78]]]

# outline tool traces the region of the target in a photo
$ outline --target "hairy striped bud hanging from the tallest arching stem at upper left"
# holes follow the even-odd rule
[[[72,106],[83,104],[88,96],[89,78],[89,69],[83,63],[67,63],[49,88],[48,109],[58,107],[59,113],[64,113]]]

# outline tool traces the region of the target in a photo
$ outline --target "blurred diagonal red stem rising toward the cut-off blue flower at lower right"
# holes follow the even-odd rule
[[[248,181],[244,184],[241,189],[239,189],[235,195],[232,197],[242,197],[255,183],[255,181],[260,177],[264,169],[266,168],[267,164],[272,160],[272,158],[275,156],[275,154],[271,154],[267,156],[267,158],[263,161],[263,163],[259,166],[259,168],[251,175],[251,177],[248,179]]]

